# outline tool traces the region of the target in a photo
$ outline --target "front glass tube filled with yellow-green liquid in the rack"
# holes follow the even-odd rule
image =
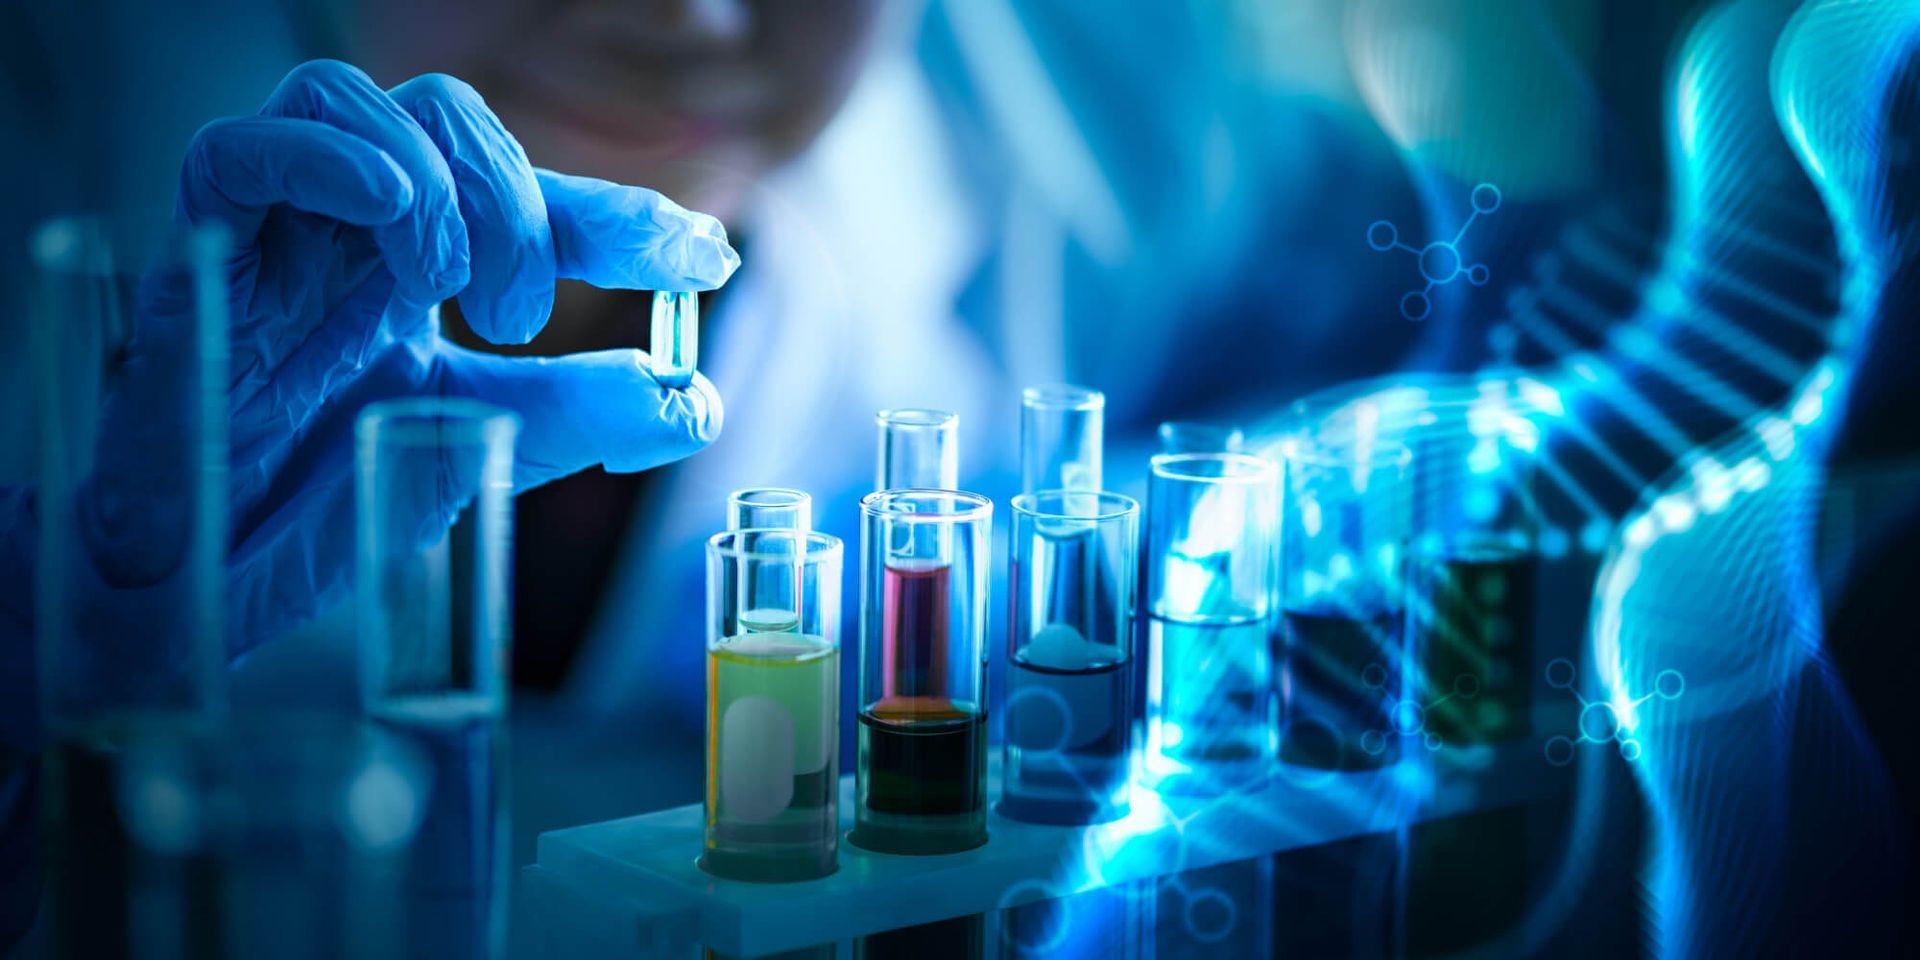
[[[793,881],[839,864],[841,541],[707,541],[707,845],[701,870]]]

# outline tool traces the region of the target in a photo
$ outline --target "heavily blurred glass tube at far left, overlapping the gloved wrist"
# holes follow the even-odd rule
[[[217,897],[204,847],[144,849],[115,799],[134,743],[204,747],[227,676],[228,236],[140,238],[123,217],[73,215],[27,244],[38,463],[21,536],[36,534],[36,555],[4,589],[10,609],[31,612],[21,655],[36,672],[6,676],[0,697],[38,695],[46,925],[60,956],[194,952],[196,929],[156,935],[136,916],[154,902],[148,879],[161,899]],[[173,315],[146,313],[140,290]]]

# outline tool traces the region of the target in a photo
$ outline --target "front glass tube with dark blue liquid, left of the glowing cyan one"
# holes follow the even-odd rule
[[[1119,493],[1014,497],[1006,816],[1127,816],[1139,516],[1140,505]]]

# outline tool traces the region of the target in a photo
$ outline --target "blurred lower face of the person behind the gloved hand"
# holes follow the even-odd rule
[[[653,186],[722,219],[826,127],[879,0],[359,0],[382,84],[451,73],[536,165]]]

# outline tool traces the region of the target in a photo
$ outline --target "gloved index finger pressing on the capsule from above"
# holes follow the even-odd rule
[[[561,276],[612,290],[714,290],[739,267],[726,227],[705,213],[643,186],[534,173]]]

